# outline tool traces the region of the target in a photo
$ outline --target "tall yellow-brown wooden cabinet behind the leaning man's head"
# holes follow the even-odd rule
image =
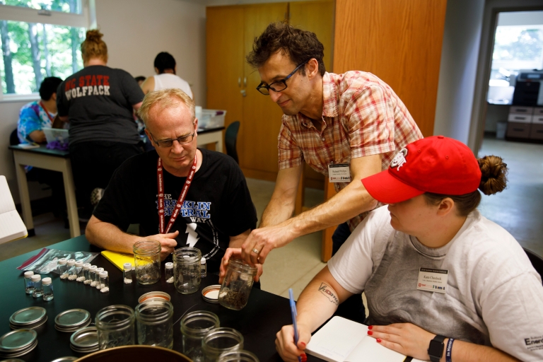
[[[290,17],[289,17],[290,13]],[[269,23],[286,21],[313,31],[325,45],[325,65],[332,69],[334,1],[213,6],[207,8],[207,107],[226,110],[225,126],[240,121],[238,156],[246,177],[275,181],[277,136],[283,112],[256,88],[258,71],[245,57],[255,37]],[[308,170],[308,186],[323,187],[322,175]]]

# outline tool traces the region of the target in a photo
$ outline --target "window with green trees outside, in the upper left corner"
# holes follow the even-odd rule
[[[37,93],[43,78],[83,68],[88,8],[87,0],[0,0],[2,98]]]

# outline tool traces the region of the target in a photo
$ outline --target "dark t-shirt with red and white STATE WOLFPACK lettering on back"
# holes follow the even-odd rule
[[[59,116],[70,121],[70,144],[83,141],[139,142],[132,105],[144,92],[127,71],[93,65],[62,82],[57,91]]]

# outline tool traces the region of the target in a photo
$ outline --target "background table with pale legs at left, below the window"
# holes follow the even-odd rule
[[[71,173],[70,153],[68,151],[49,150],[45,146],[40,146],[40,148],[9,146],[9,148],[13,151],[13,157],[15,158],[15,170],[17,173],[19,195],[21,195],[23,221],[28,230],[28,235],[34,235],[34,221],[32,219],[32,209],[30,209],[30,195],[28,194],[25,165],[62,173],[64,192],[66,194],[66,210],[68,211],[70,224],[70,237],[75,238],[81,235],[76,204],[76,188],[74,186],[74,177]]]

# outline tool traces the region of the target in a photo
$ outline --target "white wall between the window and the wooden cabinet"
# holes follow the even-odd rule
[[[191,84],[194,100],[206,101],[206,7],[179,0],[96,0],[96,21],[109,54],[108,66],[132,76],[155,74],[153,61],[168,52],[177,75]]]

